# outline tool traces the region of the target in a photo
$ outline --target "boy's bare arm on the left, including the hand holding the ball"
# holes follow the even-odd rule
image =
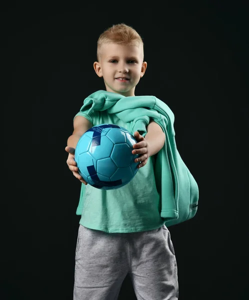
[[[66,163],[69,169],[72,171],[73,175],[84,184],[87,183],[83,180],[83,178],[78,173],[78,167],[76,161],[74,160],[74,151],[81,135],[91,127],[92,124],[90,121],[88,121],[83,116],[77,115],[73,120],[73,132],[67,138],[67,146],[65,147],[66,152],[68,152]]]

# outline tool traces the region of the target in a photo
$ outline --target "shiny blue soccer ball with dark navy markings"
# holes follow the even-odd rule
[[[138,162],[132,154],[134,136],[115,124],[91,127],[79,138],[74,159],[78,172],[90,185],[114,189],[127,184],[136,174]]]

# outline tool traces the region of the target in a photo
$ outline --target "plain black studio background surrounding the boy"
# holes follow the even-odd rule
[[[92,66],[98,35],[119,22],[144,41],[148,66],[135,94],[172,109],[178,151],[199,186],[194,218],[169,227],[179,299],[245,299],[245,1],[79,3],[19,1],[1,10],[0,299],[72,299],[80,182],[64,147],[83,99],[104,89]],[[128,277],[118,299],[127,298],[135,299]]]

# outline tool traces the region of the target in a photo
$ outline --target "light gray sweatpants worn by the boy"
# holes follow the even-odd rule
[[[167,227],[106,233],[79,225],[73,300],[115,300],[127,273],[137,300],[178,299],[177,265]]]

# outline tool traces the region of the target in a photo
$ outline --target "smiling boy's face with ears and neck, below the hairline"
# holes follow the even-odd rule
[[[140,45],[103,44],[99,62],[93,67],[99,77],[103,77],[107,91],[124,96],[133,96],[135,86],[143,76],[147,63],[143,61],[143,47]],[[125,77],[125,80],[120,79]]]

